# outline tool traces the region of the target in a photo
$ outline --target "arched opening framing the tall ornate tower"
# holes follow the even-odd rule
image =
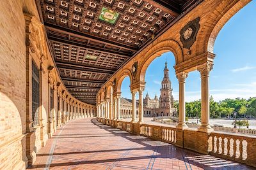
[[[150,57],[141,71],[141,77],[145,77],[145,93],[143,107],[145,121],[151,121],[152,117],[174,116],[177,111],[175,100],[179,100],[179,83],[176,78],[176,60],[172,52],[158,53],[159,57]],[[177,103],[177,101],[176,101]],[[152,114],[154,113],[154,114]]]

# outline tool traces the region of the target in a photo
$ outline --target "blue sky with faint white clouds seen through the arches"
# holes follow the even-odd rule
[[[236,97],[256,96],[256,1],[238,11],[221,29],[214,45],[214,67],[210,74],[210,94],[215,101]],[[163,53],[148,66],[145,94],[159,97],[167,59],[172,81],[173,97],[179,99],[179,83],[173,66],[172,52]],[[130,80],[122,82],[122,97],[131,98]],[[137,95],[138,98],[138,95]],[[186,101],[200,99],[200,73],[193,71],[186,79]]]

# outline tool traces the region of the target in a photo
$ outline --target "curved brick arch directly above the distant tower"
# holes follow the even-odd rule
[[[152,46],[152,48],[145,54],[143,60],[141,60],[139,68],[140,81],[145,81],[145,74],[150,63],[165,52],[173,53],[175,64],[184,61],[182,48],[177,41],[172,39],[161,41],[160,43],[157,43],[157,45]]]

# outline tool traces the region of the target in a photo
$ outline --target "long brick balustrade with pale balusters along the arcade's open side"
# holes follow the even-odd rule
[[[104,118],[97,118],[97,120],[106,124]],[[138,124],[124,120],[111,121],[113,121],[112,127],[122,131],[256,167],[256,136],[224,134],[215,131],[207,133],[199,132],[197,129],[182,130],[164,125]]]

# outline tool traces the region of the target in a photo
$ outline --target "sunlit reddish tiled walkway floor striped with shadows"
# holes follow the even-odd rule
[[[252,169],[102,125],[69,122],[47,141],[31,169]]]

